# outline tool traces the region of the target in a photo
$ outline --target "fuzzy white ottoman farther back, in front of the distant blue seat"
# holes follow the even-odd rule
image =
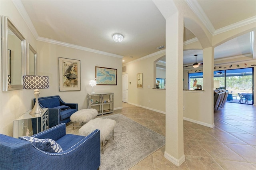
[[[80,111],[73,113],[70,116],[70,121],[73,122],[73,129],[74,123],[79,123],[79,126],[75,127],[81,127],[80,125],[87,123],[92,119],[95,119],[97,115],[98,111],[96,109],[81,109]]]

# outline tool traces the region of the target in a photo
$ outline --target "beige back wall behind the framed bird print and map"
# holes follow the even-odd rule
[[[39,41],[37,47],[39,63],[38,75],[47,75],[50,79],[50,89],[41,89],[40,97],[60,95],[66,102],[78,103],[79,110],[85,109],[87,108],[87,93],[92,92],[92,87],[89,85],[89,81],[95,78],[95,66],[108,67],[117,69],[117,85],[96,85],[96,87],[94,87],[94,92],[113,92],[114,108],[118,109],[122,107],[121,58]],[[59,92],[58,57],[80,60],[81,91]]]

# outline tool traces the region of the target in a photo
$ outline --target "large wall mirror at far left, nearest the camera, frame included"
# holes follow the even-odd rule
[[[26,75],[26,40],[12,22],[2,16],[2,91],[23,89]]]

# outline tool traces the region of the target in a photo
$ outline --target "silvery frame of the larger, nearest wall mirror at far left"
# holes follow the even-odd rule
[[[20,85],[11,85],[8,88],[8,28],[21,40],[21,64],[22,75],[26,75],[26,39],[12,24],[7,16],[1,16],[2,20],[2,91],[23,89],[22,77]]]

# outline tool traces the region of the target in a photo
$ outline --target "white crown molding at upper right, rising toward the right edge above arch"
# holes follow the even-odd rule
[[[251,18],[247,18],[246,20],[242,20],[240,22],[236,22],[236,23],[231,24],[229,26],[226,26],[226,27],[220,28],[218,30],[215,30],[213,36],[215,36],[217,34],[221,34],[221,33],[226,32],[226,31],[233,30],[235,28],[239,28],[239,27],[248,25],[248,24],[252,24],[254,22],[256,22],[256,16],[253,16]]]

